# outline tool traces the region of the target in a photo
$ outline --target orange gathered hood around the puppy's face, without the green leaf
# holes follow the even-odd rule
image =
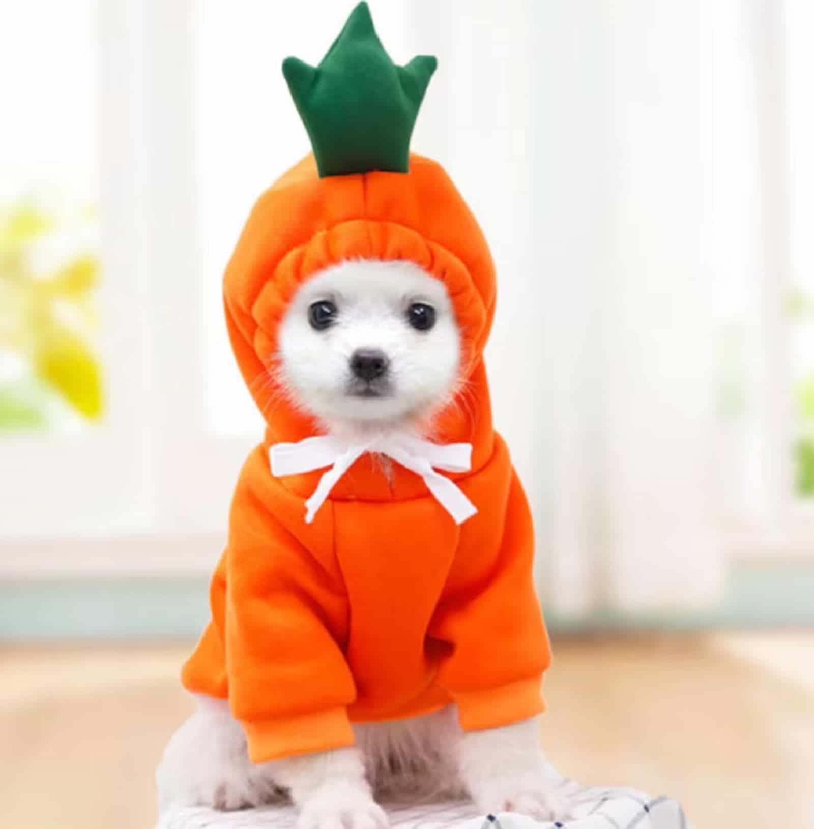
[[[411,155],[407,173],[320,178],[308,156],[257,201],[224,279],[232,347],[271,442],[300,440],[318,430],[265,380],[280,322],[297,288],[347,259],[406,259],[446,284],[461,328],[468,382],[466,400],[442,412],[437,428],[445,441],[470,440],[474,430],[456,424],[456,410],[486,414],[482,405],[475,410],[472,405],[482,394],[481,354],[495,309],[495,269],[475,217],[443,167],[429,158]]]

